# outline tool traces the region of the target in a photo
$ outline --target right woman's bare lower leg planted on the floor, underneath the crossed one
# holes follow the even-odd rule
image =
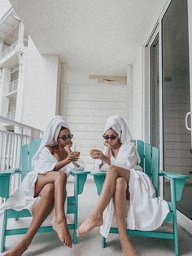
[[[126,229],[126,205],[127,205],[127,182],[124,178],[116,179],[116,192],[114,195],[114,207],[116,215],[116,224],[119,230],[120,244],[122,246],[124,256],[137,256],[136,250],[131,245]]]

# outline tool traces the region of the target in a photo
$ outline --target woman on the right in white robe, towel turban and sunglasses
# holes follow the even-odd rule
[[[77,235],[83,236],[101,226],[101,235],[107,237],[115,214],[124,255],[135,256],[137,252],[129,242],[126,228],[145,231],[158,228],[169,212],[168,203],[155,196],[151,179],[142,172],[124,119],[109,117],[103,137],[105,152],[94,150],[91,157],[101,159],[101,166],[109,166],[106,179],[96,208],[78,228]]]

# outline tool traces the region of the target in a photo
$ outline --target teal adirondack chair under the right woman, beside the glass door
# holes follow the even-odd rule
[[[137,140],[137,151],[141,157],[140,166],[142,166],[143,171],[151,178],[154,185],[156,195],[159,193],[159,177],[164,177],[170,180],[170,190],[171,190],[171,201],[168,202],[170,212],[165,218],[164,222],[172,223],[172,232],[159,232],[159,231],[139,231],[127,229],[127,235],[137,235],[137,236],[148,236],[156,238],[172,239],[175,245],[175,255],[179,255],[178,246],[178,234],[177,234],[177,210],[176,201],[181,200],[182,190],[185,186],[185,180],[189,179],[188,175],[177,174],[168,171],[159,171],[159,149],[151,147],[151,144],[144,143],[142,140]],[[91,173],[94,175],[94,183],[96,184],[98,195],[100,195],[103,182],[105,179],[104,172]],[[117,227],[111,227],[110,233],[118,233]],[[102,236],[102,247],[106,247],[106,238]]]

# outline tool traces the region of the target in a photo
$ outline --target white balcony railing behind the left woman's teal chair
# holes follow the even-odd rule
[[[4,130],[7,125],[14,126],[15,131]],[[25,143],[38,139],[42,131],[31,126],[25,126],[17,121],[11,121],[0,116],[0,171],[7,169],[20,169],[20,149]],[[12,175],[11,193],[18,188],[20,175]],[[0,200],[1,205],[1,200]]]

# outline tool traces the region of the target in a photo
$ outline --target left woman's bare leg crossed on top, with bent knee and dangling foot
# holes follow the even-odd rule
[[[64,202],[66,200],[66,183],[67,175],[62,171],[50,171],[46,175],[38,175],[35,192],[39,192],[46,183],[54,183],[54,206],[55,206],[55,223],[53,228],[57,232],[60,241],[64,245],[72,248],[72,239],[68,231],[67,219],[64,211]]]

